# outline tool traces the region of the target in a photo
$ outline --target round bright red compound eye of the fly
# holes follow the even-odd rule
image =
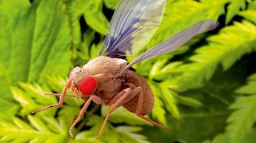
[[[97,88],[97,81],[91,75],[84,75],[82,78],[79,89],[85,96],[91,95]]]

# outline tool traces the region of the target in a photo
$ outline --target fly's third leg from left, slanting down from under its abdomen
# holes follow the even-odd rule
[[[111,109],[108,110],[107,116],[105,117],[105,120],[104,120],[104,122],[103,122],[103,124],[102,124],[102,126],[101,126],[101,131],[98,133],[98,135],[97,135],[96,138],[99,138],[99,137],[100,137],[102,131],[103,131],[104,128],[105,128],[105,125],[107,124],[108,117],[110,116],[110,114],[111,114],[114,110],[116,110],[116,108],[117,108],[118,106],[120,106],[120,105],[123,104],[123,101],[127,98],[127,96],[129,96],[130,91],[131,91],[130,88],[123,89],[121,92],[119,92],[119,93],[116,94],[116,96],[115,96],[115,97],[117,97],[116,99],[115,99],[115,97],[114,97],[114,98],[112,99],[112,101],[110,101],[110,103],[113,103],[113,102],[115,102],[115,103],[113,104],[113,106],[111,107]]]

